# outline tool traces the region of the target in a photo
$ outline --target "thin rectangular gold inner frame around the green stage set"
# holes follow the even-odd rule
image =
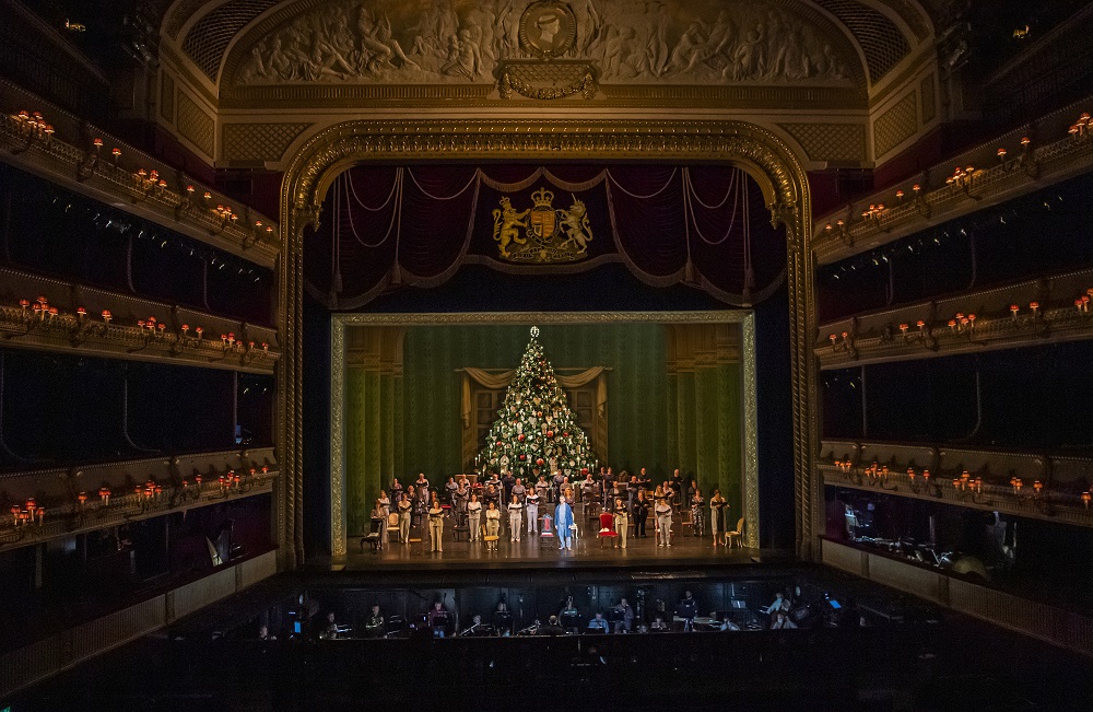
[[[482,324],[739,324],[743,402],[744,545],[759,548],[759,406],[755,392],[755,313],[725,312],[510,312],[453,314],[333,314],[330,317],[330,551],[345,556],[345,329],[367,326]]]

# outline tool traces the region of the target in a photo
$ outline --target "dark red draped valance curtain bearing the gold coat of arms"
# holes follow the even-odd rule
[[[333,310],[469,266],[583,291],[593,278],[578,276],[604,265],[747,306],[780,284],[786,240],[730,166],[359,166],[336,180],[306,254],[307,289]]]

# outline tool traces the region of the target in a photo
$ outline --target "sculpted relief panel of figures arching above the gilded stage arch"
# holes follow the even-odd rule
[[[846,36],[791,0],[303,0],[251,26],[222,83],[493,84],[551,60],[609,84],[863,83]]]

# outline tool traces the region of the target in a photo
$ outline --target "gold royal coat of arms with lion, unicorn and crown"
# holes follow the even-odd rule
[[[572,195],[572,194],[571,194]],[[517,210],[508,196],[493,211],[493,238],[500,257],[510,262],[575,262],[588,255],[592,226],[583,200],[573,196],[568,209],[554,207],[554,194],[540,188],[534,203]]]

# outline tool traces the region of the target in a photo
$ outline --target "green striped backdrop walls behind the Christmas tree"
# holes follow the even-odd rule
[[[371,328],[371,327],[353,327]],[[345,369],[349,532],[363,530],[380,488],[425,472],[433,485],[462,471],[460,398],[465,366],[513,369],[528,326],[409,327],[402,375]],[[719,487],[739,516],[741,367],[719,363],[669,375],[659,324],[550,325],[539,337],[554,369],[607,366],[608,464],[615,471],[672,468],[697,475],[704,494]],[[732,521],[734,524],[734,520]]]

